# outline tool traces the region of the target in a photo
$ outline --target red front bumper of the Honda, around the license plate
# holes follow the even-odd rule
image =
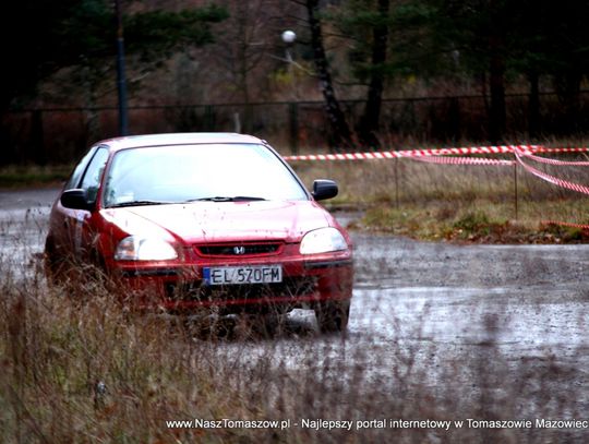
[[[264,265],[271,262],[250,262]],[[120,263],[117,288],[125,303],[136,309],[190,311],[215,308],[220,312],[289,311],[312,308],[325,300],[349,300],[352,295],[351,254],[313,260],[272,261],[283,266],[283,281],[211,286],[202,278],[206,266],[238,263],[142,264]]]

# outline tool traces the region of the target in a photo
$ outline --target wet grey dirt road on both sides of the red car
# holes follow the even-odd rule
[[[56,194],[0,192],[0,261],[34,266]],[[346,223],[354,215],[339,217]],[[296,311],[274,338],[281,365],[318,371],[329,360],[350,383],[361,372],[362,384],[384,392],[419,386],[413,399],[425,391],[447,404],[449,391],[454,404],[444,411],[454,411],[450,419],[474,415],[481,403],[507,419],[589,419],[589,245],[352,237],[356,285],[346,340],[318,335],[314,317]],[[226,347],[244,359],[263,352],[255,341]],[[310,365],[303,358],[316,356],[317,347],[324,362]],[[556,432],[584,442],[589,429]]]

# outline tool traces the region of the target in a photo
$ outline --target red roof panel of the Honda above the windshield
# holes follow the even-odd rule
[[[94,145],[107,146],[110,151],[133,147],[164,145],[194,145],[212,143],[255,143],[266,144],[265,141],[249,134],[238,133],[157,133],[112,137],[96,142]]]

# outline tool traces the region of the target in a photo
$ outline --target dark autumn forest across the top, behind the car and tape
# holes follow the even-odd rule
[[[4,5],[1,164],[70,163],[120,134],[115,3]],[[119,5],[131,134],[238,131],[297,153],[570,141],[589,128],[586,1]]]

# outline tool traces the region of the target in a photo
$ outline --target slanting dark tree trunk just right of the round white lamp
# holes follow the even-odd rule
[[[317,17],[318,0],[306,0],[305,3],[309,13],[309,25],[311,27],[311,44],[313,46],[315,69],[317,70],[321,81],[321,91],[325,99],[325,109],[333,132],[333,146],[336,148],[340,146],[350,146],[352,144],[351,132],[335,95],[332,75],[329,74],[327,64],[327,57],[323,46],[321,22]]]

